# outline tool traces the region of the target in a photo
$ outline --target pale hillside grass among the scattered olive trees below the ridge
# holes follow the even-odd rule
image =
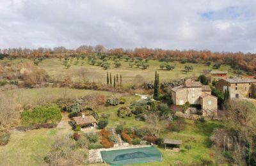
[[[10,61],[11,63],[19,63],[20,61],[23,62],[32,62],[29,59],[15,59]],[[185,77],[198,77],[198,75],[202,74],[203,70],[212,70],[211,66],[206,66],[205,64],[194,64],[194,63],[186,63],[182,64],[179,62],[172,62],[168,63],[175,66],[174,70],[160,70],[159,65],[162,62],[156,60],[149,60],[149,68],[142,70],[140,68],[133,68],[129,67],[129,62],[121,61],[122,66],[119,68],[115,68],[113,61],[109,60],[111,63],[110,68],[108,70],[104,70],[100,66],[93,66],[88,64],[87,59],[79,59],[78,64],[74,64],[76,58],[72,61],[71,67],[66,69],[63,66],[63,60],[52,58],[52,59],[45,59],[42,63],[39,63],[38,66],[40,68],[44,68],[47,74],[51,77],[51,79],[55,80],[63,80],[63,78],[69,75],[72,79],[74,78],[75,82],[81,82],[81,75],[80,71],[82,68],[86,69],[86,78],[90,81],[95,82],[106,82],[106,72],[111,72],[113,75],[122,74],[122,79],[124,84],[132,84],[134,81],[134,77],[136,75],[141,75],[146,81],[154,80],[154,73],[157,71],[161,80],[170,80],[170,79],[178,79],[178,78],[185,78]],[[97,61],[100,61],[97,59]],[[8,60],[4,59],[0,61],[1,63],[6,63]],[[193,66],[194,70],[192,72],[184,72],[184,66],[189,65]],[[230,66],[221,65],[220,69],[222,71],[229,71],[229,75],[234,75]]]

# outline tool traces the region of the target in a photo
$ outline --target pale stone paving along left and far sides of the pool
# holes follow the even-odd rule
[[[119,146],[119,147],[111,147],[111,148],[101,148],[101,149],[91,149],[89,150],[88,163],[103,163],[100,151],[113,151],[120,149],[131,149],[137,147],[150,147],[150,145],[127,145],[127,146]]]

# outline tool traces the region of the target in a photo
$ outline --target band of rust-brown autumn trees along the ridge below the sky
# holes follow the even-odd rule
[[[79,54],[111,54],[114,56],[141,57],[159,59],[163,61],[180,61],[182,63],[209,63],[210,61],[220,64],[228,64],[233,68],[240,68],[250,72],[256,72],[256,54],[250,52],[211,52],[209,50],[163,50],[163,49],[106,49],[102,45],[86,46],[82,45],[77,49],[66,49],[65,47],[55,47],[53,49],[0,49],[0,57],[60,57],[77,56]]]

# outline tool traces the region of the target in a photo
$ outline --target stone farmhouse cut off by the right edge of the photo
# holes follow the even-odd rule
[[[256,98],[256,79],[221,79],[215,87],[223,93],[228,87],[230,98]]]

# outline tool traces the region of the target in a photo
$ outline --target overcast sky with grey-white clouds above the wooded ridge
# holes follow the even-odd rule
[[[256,52],[255,0],[0,0],[0,48]]]

